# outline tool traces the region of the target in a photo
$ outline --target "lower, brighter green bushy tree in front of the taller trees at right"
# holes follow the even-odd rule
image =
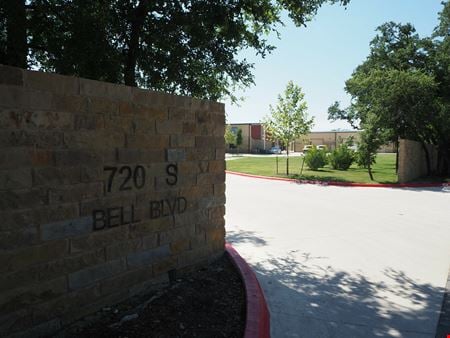
[[[422,144],[430,174],[426,143],[436,141],[432,131],[438,107],[434,78],[423,71],[375,69],[354,76],[346,88],[355,97],[358,111],[378,116],[377,127],[386,131],[386,142],[404,138]],[[367,117],[362,120],[367,125]]]

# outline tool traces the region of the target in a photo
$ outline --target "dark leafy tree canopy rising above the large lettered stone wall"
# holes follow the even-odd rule
[[[18,53],[45,71],[217,100],[253,83],[253,65],[237,55],[270,53],[283,12],[302,26],[322,4],[348,2],[2,0],[0,61]]]

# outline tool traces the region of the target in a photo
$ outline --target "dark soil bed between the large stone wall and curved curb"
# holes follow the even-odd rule
[[[244,286],[224,255],[163,290],[104,308],[58,336],[232,338],[243,337],[244,328]]]

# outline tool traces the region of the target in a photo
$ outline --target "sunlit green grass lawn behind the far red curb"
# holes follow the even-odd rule
[[[305,180],[357,182],[357,183],[397,183],[395,173],[395,154],[378,154],[377,162],[373,166],[373,177],[371,181],[367,169],[352,165],[348,170],[333,170],[325,166],[319,170],[309,170],[305,164],[300,176],[302,157],[289,158],[289,176],[286,175],[286,156],[278,157],[278,174],[276,171],[275,157],[242,157],[227,161],[227,170],[238,171],[247,174],[290,177]]]

